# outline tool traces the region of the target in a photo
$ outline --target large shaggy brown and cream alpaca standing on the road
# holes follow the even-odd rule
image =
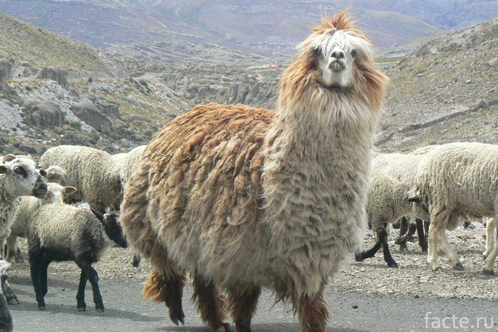
[[[126,236],[150,259],[146,298],[184,323],[185,274],[204,323],[250,332],[261,288],[324,332],[323,292],[367,227],[388,78],[346,11],[323,18],[280,80],[276,111],[201,105],[147,145],[124,193]],[[228,294],[226,299],[219,289]]]

